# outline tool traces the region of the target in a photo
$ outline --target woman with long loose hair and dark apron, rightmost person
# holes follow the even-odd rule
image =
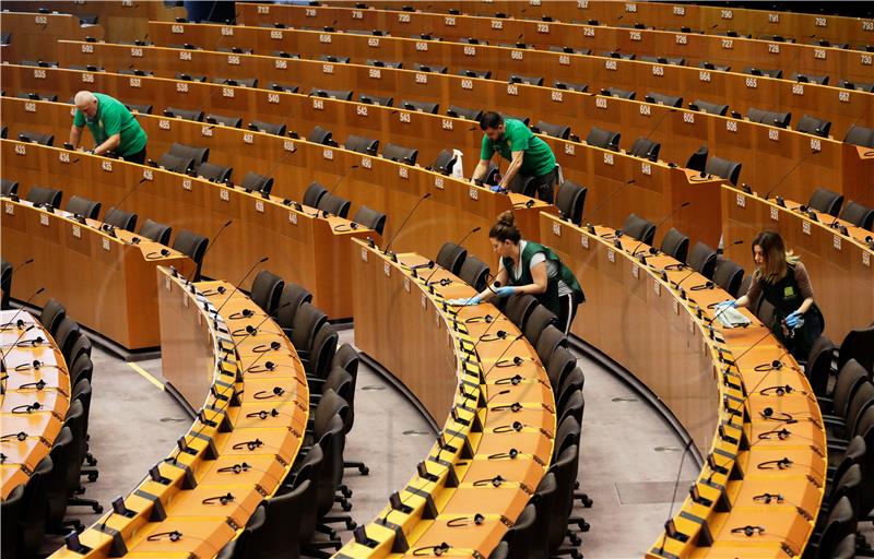
[[[773,306],[773,323],[768,325],[796,359],[806,360],[825,326],[807,269],[786,250],[782,237],[775,231],[761,231],[753,239],[753,261],[756,270],[749,290],[719,307],[746,307],[763,295]]]

